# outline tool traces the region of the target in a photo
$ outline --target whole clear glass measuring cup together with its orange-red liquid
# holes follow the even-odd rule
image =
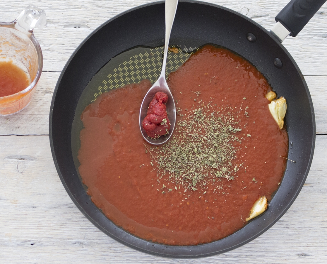
[[[17,113],[32,100],[43,67],[33,28],[45,25],[45,12],[32,5],[13,22],[0,23],[0,115]]]

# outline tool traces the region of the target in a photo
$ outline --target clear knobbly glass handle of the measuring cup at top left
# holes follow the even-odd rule
[[[15,28],[21,32],[33,32],[34,28],[43,28],[46,25],[46,15],[43,9],[29,5],[13,22]]]

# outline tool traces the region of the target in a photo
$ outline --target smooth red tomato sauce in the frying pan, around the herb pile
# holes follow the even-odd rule
[[[234,110],[242,142],[232,162],[243,165],[233,180],[184,192],[157,176],[138,123],[147,80],[104,93],[85,108],[78,170],[95,205],[131,234],[169,245],[208,243],[246,225],[260,196],[272,198],[286,166],[287,132],[268,110],[267,80],[226,49],[203,47],[169,75],[168,85],[181,109],[177,122],[209,102]]]

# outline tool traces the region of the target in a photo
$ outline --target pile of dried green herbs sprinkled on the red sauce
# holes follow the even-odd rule
[[[222,110],[222,109],[221,109]],[[235,113],[234,113],[235,114]],[[225,108],[215,111],[209,104],[180,115],[173,137],[161,147],[150,147],[151,165],[157,164],[158,177],[164,175],[184,191],[197,190],[210,180],[234,179],[238,167],[233,165],[237,148],[235,135],[242,129],[239,121]],[[177,187],[174,189],[177,190]]]

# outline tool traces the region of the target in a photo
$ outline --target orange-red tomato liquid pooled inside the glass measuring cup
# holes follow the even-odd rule
[[[24,90],[30,84],[26,72],[12,62],[0,62],[0,97]]]

